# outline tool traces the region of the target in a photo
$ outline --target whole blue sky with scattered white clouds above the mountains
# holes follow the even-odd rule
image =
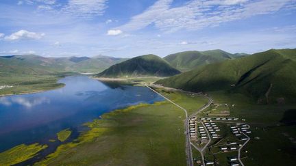
[[[1,0],[0,55],[296,48],[295,0]]]

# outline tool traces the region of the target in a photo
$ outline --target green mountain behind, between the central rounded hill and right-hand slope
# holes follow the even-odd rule
[[[236,56],[222,50],[210,50],[184,51],[181,53],[167,55],[164,59],[178,70],[187,71],[206,64],[213,64],[227,59],[234,59],[234,57]]]

